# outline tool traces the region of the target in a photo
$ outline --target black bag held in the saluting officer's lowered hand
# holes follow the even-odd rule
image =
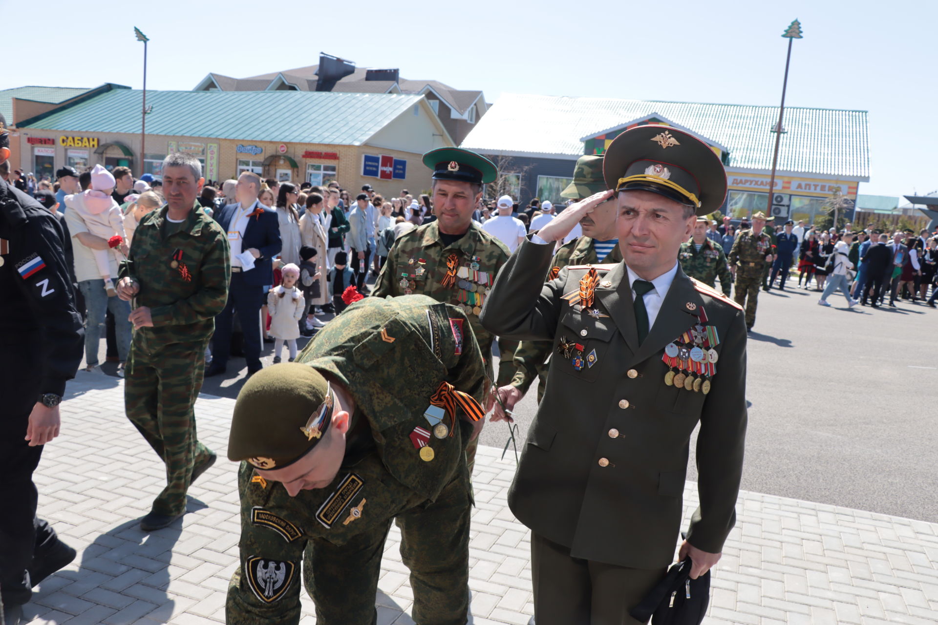
[[[668,569],[668,574],[628,614],[652,625],[700,625],[710,603],[710,572],[690,579],[690,558]]]

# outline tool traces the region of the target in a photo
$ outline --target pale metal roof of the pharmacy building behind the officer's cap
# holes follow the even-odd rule
[[[483,154],[574,159],[582,156],[582,137],[653,112],[725,145],[730,167],[772,167],[771,129],[779,119],[774,106],[504,94],[461,147]],[[869,179],[866,111],[786,107],[783,126],[779,171]]]

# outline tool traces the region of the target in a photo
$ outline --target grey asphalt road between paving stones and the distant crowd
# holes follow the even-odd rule
[[[938,310],[831,308],[807,290],[760,292],[749,335],[749,431],[742,488],[938,522]],[[300,348],[306,339],[300,339]],[[103,341],[101,342],[103,360]],[[284,359],[286,350],[284,350]],[[272,346],[265,344],[270,364]],[[104,365],[113,372],[115,365]],[[247,370],[233,358],[203,392],[237,395]],[[718,374],[719,375],[719,374]],[[663,383],[649,380],[649,383]],[[537,411],[533,390],[515,409],[519,451]],[[481,443],[503,447],[505,423]],[[688,479],[696,479],[691,440]],[[512,454],[508,448],[508,454]]]

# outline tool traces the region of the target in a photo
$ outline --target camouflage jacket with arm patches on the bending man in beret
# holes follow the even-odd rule
[[[365,310],[349,315],[356,308]],[[299,622],[300,563],[313,541],[343,545],[364,532],[386,531],[390,519],[433,501],[454,481],[470,500],[465,448],[472,424],[457,418],[452,436],[426,437],[429,461],[412,438],[417,427],[432,432],[424,412],[442,381],[482,399],[482,357],[468,324],[461,310],[429,297],[369,297],[299,354],[297,362],[339,380],[355,398],[345,457],[332,484],[296,497],[241,463],[241,564],[228,588],[229,623]],[[452,424],[448,416],[443,423]],[[446,528],[440,531],[446,536]]]

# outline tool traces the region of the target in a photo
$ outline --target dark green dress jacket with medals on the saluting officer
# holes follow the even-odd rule
[[[551,246],[524,242],[482,311],[490,332],[551,340],[547,391],[528,431],[508,494],[520,521],[570,548],[573,558],[657,569],[672,561],[681,530],[690,434],[700,424],[701,506],[688,540],[721,551],[735,522],[746,433],[746,323],[738,305],[680,269],[640,345],[623,262],[599,265],[597,315],[570,305],[588,273],[569,266],[546,284]],[[702,320],[719,334],[709,394],[665,383],[665,346]],[[582,347],[568,359],[562,342]]]

